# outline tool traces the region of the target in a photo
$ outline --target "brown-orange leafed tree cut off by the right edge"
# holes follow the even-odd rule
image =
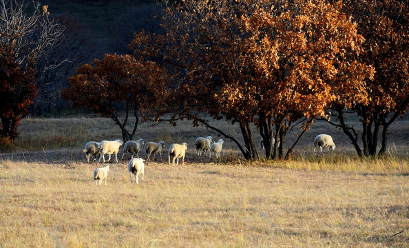
[[[368,102],[356,103],[350,108],[334,104],[332,110],[336,112],[332,114],[339,121],[331,123],[342,128],[359,156],[377,154],[381,132],[378,151],[384,154],[388,127],[408,111],[409,6],[407,1],[344,2],[344,12],[357,22],[357,30],[365,38],[359,61],[372,65],[375,74],[372,80],[366,81]],[[351,116],[348,112],[359,116],[361,135],[353,125],[346,123]]]

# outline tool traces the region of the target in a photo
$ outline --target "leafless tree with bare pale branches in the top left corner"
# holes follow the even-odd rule
[[[48,6],[38,1],[0,0],[0,46],[13,48],[21,68],[34,64],[39,98],[48,87],[48,74],[70,61],[53,56],[64,40],[65,26],[50,17]]]

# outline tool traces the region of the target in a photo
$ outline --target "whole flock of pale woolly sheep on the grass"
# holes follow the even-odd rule
[[[194,141],[195,153],[200,158],[203,154],[209,155],[209,158],[215,158],[218,160],[223,151],[223,143],[224,140],[221,138],[218,142],[214,142],[211,136],[207,136],[206,138],[198,137],[196,141]],[[146,143],[145,147],[145,140],[140,138],[136,141],[127,141],[122,149],[122,156],[120,160],[123,160],[124,156],[127,153],[131,154],[131,158],[129,160],[127,169],[129,172],[129,179],[132,183],[132,175],[135,176],[135,183],[138,184],[139,180],[138,177],[141,176],[141,180],[144,180],[145,174],[145,162],[146,163],[153,163],[156,161],[155,157],[158,154],[160,158],[160,162],[162,162],[162,149],[165,149],[165,142],[164,141],[149,141]],[[261,139],[261,149],[263,147],[263,140]],[[105,163],[104,155],[109,155],[108,162],[111,160],[111,155],[114,154],[116,158],[116,163],[118,163],[117,154],[120,152],[120,146],[123,145],[123,141],[121,139],[117,139],[115,141],[89,141],[85,144],[83,152],[85,152],[85,158],[87,163],[90,163],[90,158],[94,157],[94,161],[98,159],[98,163],[103,160]],[[314,140],[314,152],[319,147],[320,151],[322,152],[322,148],[324,149],[335,149],[335,143],[333,138],[328,134],[319,134],[315,137]],[[144,148],[144,149],[143,149]],[[145,150],[146,157],[140,158],[139,152],[140,150]],[[168,163],[169,165],[179,165],[179,158],[182,158],[182,165],[185,164],[185,156],[187,154],[188,143],[172,143],[169,145],[169,149],[167,151],[168,155]],[[152,159],[150,156],[153,155]],[[136,158],[134,158],[136,156]],[[202,158],[201,158],[202,159]],[[172,161],[172,162],[171,162]],[[118,168],[118,167],[116,167]],[[109,172],[109,165],[104,165],[103,167],[98,167],[94,171],[94,182],[96,185],[101,185],[103,180],[105,180],[105,185],[107,184],[107,177]]]

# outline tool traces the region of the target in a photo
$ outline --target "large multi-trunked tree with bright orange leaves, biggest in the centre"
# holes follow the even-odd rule
[[[267,158],[288,158],[331,103],[366,101],[364,79],[372,70],[357,61],[364,39],[341,2],[180,2],[165,12],[166,37],[140,33],[132,45],[179,72],[178,115],[231,138],[245,158],[258,157],[252,125]],[[238,123],[244,145],[202,114]],[[286,134],[298,123],[299,138],[284,154]]]

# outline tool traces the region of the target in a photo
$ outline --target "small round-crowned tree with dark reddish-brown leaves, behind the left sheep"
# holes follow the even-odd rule
[[[62,96],[74,107],[87,107],[96,114],[112,118],[120,127],[124,141],[134,138],[139,117],[153,115],[167,97],[168,79],[153,62],[137,61],[130,55],[106,54],[95,65],[84,64],[70,77],[71,88]],[[136,118],[132,132],[127,130],[129,113]],[[125,116],[121,121],[121,114]]]

